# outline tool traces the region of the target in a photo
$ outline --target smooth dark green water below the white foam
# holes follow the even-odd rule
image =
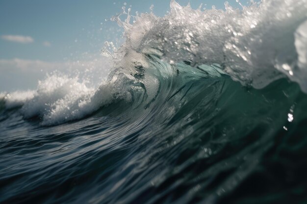
[[[130,100],[79,120],[44,126],[3,99],[0,203],[307,203],[307,95],[296,83],[256,90],[216,64],[147,59],[135,80],[110,75]]]

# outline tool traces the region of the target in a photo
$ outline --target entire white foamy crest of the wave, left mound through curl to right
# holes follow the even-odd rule
[[[39,117],[42,125],[80,119],[119,100],[147,107],[165,94],[161,87],[170,86],[183,61],[189,67],[185,76],[202,70],[205,77],[212,69],[201,67],[213,66],[213,76],[228,74],[246,87],[260,89],[287,77],[307,91],[306,0],[252,1],[237,9],[226,2],[225,10],[192,9],[171,0],[164,17],[153,8],[136,16],[123,9],[111,20],[125,29],[126,42],[118,49],[107,42],[102,49],[113,62],[106,82],[95,87],[55,72],[37,90],[2,93],[2,107],[20,107],[25,118]]]

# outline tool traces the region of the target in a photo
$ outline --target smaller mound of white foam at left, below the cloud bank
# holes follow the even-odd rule
[[[38,116],[42,125],[55,125],[82,118],[97,111],[100,107],[116,100],[131,100],[128,91],[129,77],[118,74],[112,80],[102,82],[94,88],[87,82],[54,72],[45,80],[39,81],[35,91],[15,91],[1,93],[5,108],[21,107],[25,118]]]

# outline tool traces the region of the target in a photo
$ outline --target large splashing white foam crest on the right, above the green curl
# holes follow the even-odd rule
[[[155,46],[169,62],[219,63],[243,85],[263,88],[287,75],[307,92],[306,25],[301,25],[307,20],[307,0],[252,1],[240,9],[225,2],[225,10],[194,10],[171,0],[164,17],[129,12],[111,19],[125,29],[126,43],[116,51],[120,59]]]

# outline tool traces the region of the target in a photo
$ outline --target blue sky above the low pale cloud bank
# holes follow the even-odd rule
[[[189,0],[177,1],[186,5]],[[190,1],[194,8],[201,3],[207,4],[206,8],[213,4],[224,8],[224,0]],[[238,7],[235,0],[229,2]],[[121,35],[117,24],[105,19],[121,12],[124,3],[126,7],[131,7],[132,13],[149,12],[153,4],[155,15],[163,16],[169,10],[170,1],[0,0],[0,91],[15,90],[18,86],[33,88],[36,78],[45,74],[42,68],[42,73],[33,79],[25,76],[25,70],[18,72],[18,68],[8,68],[15,65],[23,67],[20,64],[25,62],[16,62],[16,59],[30,64],[38,61],[64,63],[82,60],[84,56],[99,56],[105,41],[114,41]],[[12,63],[10,60],[15,61]],[[21,78],[31,78],[31,83],[25,79],[22,83]]]

